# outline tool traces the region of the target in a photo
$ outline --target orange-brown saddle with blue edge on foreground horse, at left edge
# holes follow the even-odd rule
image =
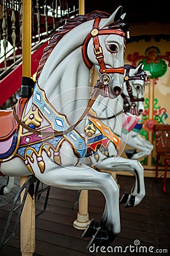
[[[15,109],[18,117],[22,118],[25,102],[28,98],[19,98]],[[10,157],[16,150],[19,124],[16,122],[12,110],[0,111],[0,162]]]

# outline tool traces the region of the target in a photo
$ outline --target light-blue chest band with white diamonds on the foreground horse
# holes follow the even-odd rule
[[[71,127],[65,115],[57,113],[53,106],[46,100],[44,91],[37,84],[34,88],[32,102],[39,108],[41,114],[48,120],[54,131],[68,130]],[[63,137],[71,143],[75,153],[80,158],[84,158],[87,145],[82,135],[74,129],[67,134],[63,134]]]

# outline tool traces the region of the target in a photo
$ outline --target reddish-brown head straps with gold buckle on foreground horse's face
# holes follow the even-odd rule
[[[120,36],[125,36],[125,33],[120,29],[99,30],[98,29],[99,22],[100,22],[100,18],[96,18],[94,21],[93,29],[87,35],[87,37],[84,41],[84,44],[82,46],[82,54],[83,54],[84,62],[88,68],[90,68],[90,69],[92,68],[92,63],[87,55],[87,46],[88,46],[90,39],[93,38],[94,39],[94,53],[96,55],[96,59],[97,59],[99,65],[100,65],[100,73],[120,73],[120,74],[124,75],[124,72],[125,72],[124,67],[120,67],[120,68],[106,68],[105,67],[103,49],[100,46],[98,35],[116,34],[116,35],[120,35]]]

